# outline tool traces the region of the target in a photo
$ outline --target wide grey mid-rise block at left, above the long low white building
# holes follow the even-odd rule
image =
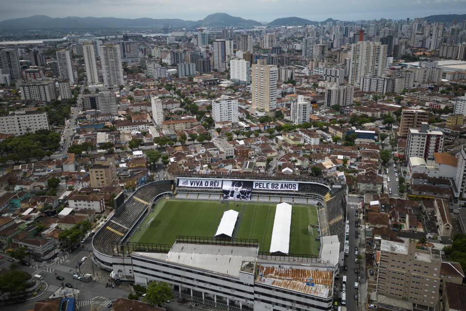
[[[58,97],[57,87],[53,80],[18,81],[17,86],[21,92],[21,99],[23,100],[51,102]]]

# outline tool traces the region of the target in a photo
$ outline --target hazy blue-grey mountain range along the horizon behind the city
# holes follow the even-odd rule
[[[451,22],[453,19],[461,21],[466,19],[466,14],[456,15],[431,15],[424,17],[431,22]],[[300,26],[325,24],[327,21],[337,21],[328,18],[324,21],[314,21],[300,17],[277,18],[267,25],[270,26]],[[262,23],[241,17],[234,17],[226,13],[215,13],[197,21],[183,20],[179,18],[116,18],[116,17],[48,17],[46,15],[34,15],[6,19],[0,22],[0,29],[43,29],[43,28],[121,28],[121,27],[163,27],[164,25],[178,27],[253,27]]]

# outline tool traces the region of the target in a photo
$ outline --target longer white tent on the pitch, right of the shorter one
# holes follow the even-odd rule
[[[280,252],[288,254],[290,248],[291,205],[277,204],[275,220],[273,221],[270,253]]]

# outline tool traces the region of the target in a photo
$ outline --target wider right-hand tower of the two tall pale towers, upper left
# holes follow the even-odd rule
[[[100,63],[102,64],[103,84],[105,86],[118,87],[125,84],[119,45],[115,43],[102,44],[100,46]]]

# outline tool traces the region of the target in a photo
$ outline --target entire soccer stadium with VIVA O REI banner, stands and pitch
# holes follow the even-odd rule
[[[346,197],[322,177],[181,172],[118,198],[92,260],[116,280],[163,280],[215,308],[330,310]]]

